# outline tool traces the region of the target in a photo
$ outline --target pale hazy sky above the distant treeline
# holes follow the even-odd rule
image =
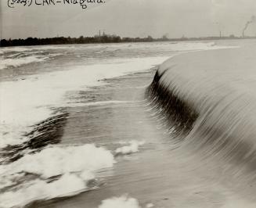
[[[247,21],[256,16],[256,0],[105,0],[88,4],[87,9],[27,1],[32,1],[31,6],[9,8],[8,0],[1,0],[1,38],[94,36],[99,30],[134,38],[218,36],[220,31],[240,36]],[[256,23],[245,34],[255,35]]]

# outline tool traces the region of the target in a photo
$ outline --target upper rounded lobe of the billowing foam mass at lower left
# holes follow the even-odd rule
[[[93,172],[102,167],[112,167],[113,164],[114,156],[110,151],[95,145],[52,146],[0,166],[0,177],[26,172],[38,174],[41,178],[51,178],[72,172]]]

